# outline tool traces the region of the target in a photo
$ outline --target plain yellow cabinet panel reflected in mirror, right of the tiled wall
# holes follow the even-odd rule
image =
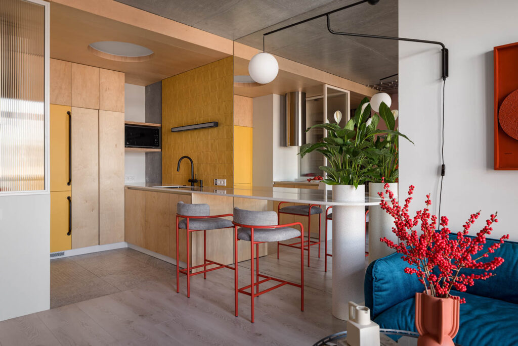
[[[234,126],[234,184],[252,184],[252,128]]]

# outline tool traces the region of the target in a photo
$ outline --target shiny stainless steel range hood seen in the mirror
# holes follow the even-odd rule
[[[286,146],[306,144],[306,93],[286,94]]]

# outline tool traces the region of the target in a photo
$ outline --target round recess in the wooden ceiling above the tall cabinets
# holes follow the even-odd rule
[[[98,41],[90,43],[88,50],[100,57],[124,61],[141,62],[151,58],[153,51],[138,44],[119,41]]]

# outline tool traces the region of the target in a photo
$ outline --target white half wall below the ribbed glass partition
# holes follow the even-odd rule
[[[0,197],[0,321],[49,309],[50,194]]]

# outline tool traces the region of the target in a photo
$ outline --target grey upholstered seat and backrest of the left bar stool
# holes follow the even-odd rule
[[[184,216],[209,216],[210,215],[210,207],[208,204],[188,204],[183,202],[178,202],[176,205],[176,210],[179,215]],[[202,231],[202,230],[217,230],[220,228],[229,228],[234,227],[234,224],[231,220],[223,219],[223,218],[212,218],[212,219],[190,219],[189,220],[189,229],[193,231]],[[187,228],[187,220],[181,219],[178,222],[179,229]]]

